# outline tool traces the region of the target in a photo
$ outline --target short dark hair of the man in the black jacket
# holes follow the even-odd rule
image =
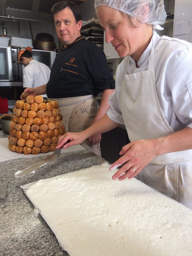
[[[63,9],[69,7],[75,17],[76,23],[81,20],[81,12],[80,9],[78,7],[78,5],[72,1],[66,0],[66,1],[60,1],[56,4],[54,4],[54,6],[51,9],[51,13],[52,14],[56,14],[60,11],[62,11]]]

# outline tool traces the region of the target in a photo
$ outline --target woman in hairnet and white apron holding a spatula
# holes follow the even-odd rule
[[[64,148],[125,124],[131,143],[110,167],[113,179],[136,177],[192,209],[192,44],[158,36],[163,0],[95,0],[106,42],[120,57],[116,91],[103,118],[59,139]]]

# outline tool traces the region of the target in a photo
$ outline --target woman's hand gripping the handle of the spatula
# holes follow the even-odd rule
[[[66,134],[62,135],[58,142],[57,147],[60,148],[63,144],[65,144],[68,140],[70,140],[69,143],[66,143],[63,148],[70,147],[72,145],[78,145],[81,142],[83,142],[86,138],[83,136],[83,132],[67,132]]]

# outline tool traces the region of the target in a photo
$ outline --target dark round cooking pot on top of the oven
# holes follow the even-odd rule
[[[38,33],[33,46],[40,50],[54,50],[56,44],[52,35],[48,33]]]

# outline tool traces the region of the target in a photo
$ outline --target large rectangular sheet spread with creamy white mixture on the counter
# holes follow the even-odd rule
[[[22,186],[70,256],[191,256],[192,211],[107,163]]]

